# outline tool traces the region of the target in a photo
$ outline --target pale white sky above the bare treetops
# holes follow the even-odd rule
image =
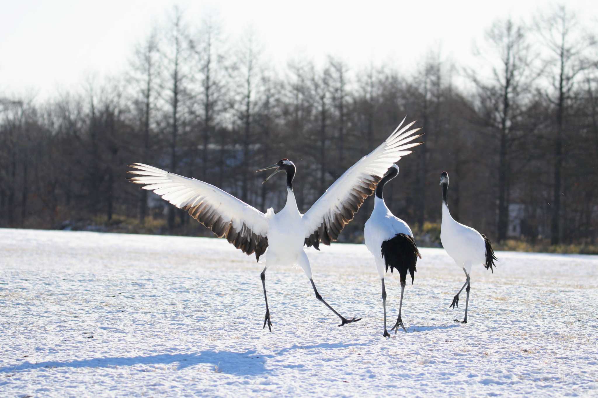
[[[77,88],[90,73],[125,70],[136,42],[163,20],[165,0],[19,0],[0,8],[0,95]],[[496,1],[180,1],[185,18],[199,24],[216,10],[231,39],[248,27],[258,33],[265,56],[282,68],[307,57],[343,58],[352,69],[370,62],[410,72],[432,48],[463,65],[472,43],[496,17],[530,20],[550,5],[539,0]],[[567,0],[587,26],[597,26],[598,1]],[[593,24],[591,24],[593,23]]]

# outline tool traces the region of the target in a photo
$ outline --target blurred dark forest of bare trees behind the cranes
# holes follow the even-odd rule
[[[132,162],[207,181],[264,211],[282,208],[283,178],[261,184],[254,171],[289,158],[306,211],[407,115],[425,144],[399,162],[385,196],[420,246],[439,244],[447,171],[453,217],[499,248],[598,252],[596,25],[564,5],[479,32],[485,69],[438,49],[408,73],[333,56],[280,70],[251,31],[230,39],[216,18],[167,14],[118,76],[89,76],[44,100],[0,91],[0,227],[210,236],[128,183]],[[372,206],[340,241],[361,241]]]

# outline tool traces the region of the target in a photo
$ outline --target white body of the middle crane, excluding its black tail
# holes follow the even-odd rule
[[[374,256],[376,269],[380,278],[384,277],[385,264],[382,258],[382,242],[392,239],[398,233],[404,233],[413,237],[411,228],[398,217],[390,212],[384,199],[374,196],[374,210],[368,221],[365,222],[364,239],[365,246]]]

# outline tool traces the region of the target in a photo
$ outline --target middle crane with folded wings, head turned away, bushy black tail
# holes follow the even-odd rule
[[[401,303],[399,303],[399,316],[396,318],[393,329],[396,332],[399,326],[405,332],[405,326],[401,319],[401,309],[403,306],[403,293],[405,291],[405,279],[407,271],[411,274],[411,284],[413,284],[414,273],[416,272],[417,258],[422,258],[417,250],[417,245],[413,240],[413,233],[405,221],[395,217],[383,198],[384,186],[399,174],[399,166],[393,164],[386,172],[386,175],[380,180],[376,187],[376,198],[374,198],[374,211],[365,223],[364,238],[365,245],[376,261],[376,269],[382,279],[382,306],[384,308],[384,336],[390,337],[386,331],[386,288],[384,286],[384,275],[390,273],[393,269],[399,271],[401,277]]]

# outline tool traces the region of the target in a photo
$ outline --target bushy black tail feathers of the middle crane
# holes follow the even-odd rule
[[[417,272],[417,257],[422,258],[422,255],[417,250],[415,240],[409,235],[399,233],[392,239],[382,242],[382,258],[384,258],[386,272],[388,272],[388,267],[390,267],[390,273],[393,269],[398,270],[401,275],[401,283],[407,279],[408,270],[413,285],[413,279]]]

